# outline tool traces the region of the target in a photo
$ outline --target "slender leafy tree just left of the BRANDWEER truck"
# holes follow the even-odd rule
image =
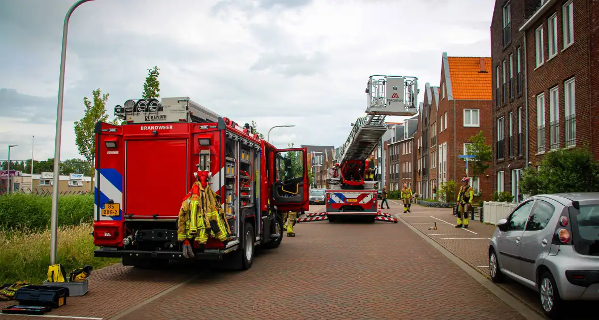
[[[89,162],[89,174],[92,177],[91,188],[93,188],[93,161],[96,155],[96,139],[94,134],[94,128],[98,121],[106,122],[108,114],[106,114],[106,101],[108,101],[108,93],[102,95],[101,90],[98,88],[92,91],[93,94],[93,105],[87,96],[83,97],[83,104],[85,110],[83,111],[83,117],[79,121],[75,121],[75,143],[79,154]],[[115,119],[116,120],[116,119]],[[92,189],[93,190],[93,189]]]

